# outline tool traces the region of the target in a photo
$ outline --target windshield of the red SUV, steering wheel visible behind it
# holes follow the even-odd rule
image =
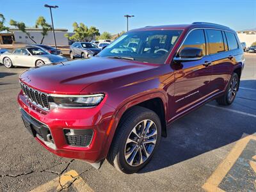
[[[132,31],[120,36],[98,56],[164,63],[181,33],[182,30]]]

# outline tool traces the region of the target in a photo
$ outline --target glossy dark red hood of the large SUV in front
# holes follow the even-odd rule
[[[77,94],[92,83],[122,77],[156,65],[93,57],[31,68],[20,81],[46,93]]]

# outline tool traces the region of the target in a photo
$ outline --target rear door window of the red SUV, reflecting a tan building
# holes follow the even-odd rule
[[[220,30],[206,29],[207,50],[209,54],[214,54],[224,51],[224,42]]]

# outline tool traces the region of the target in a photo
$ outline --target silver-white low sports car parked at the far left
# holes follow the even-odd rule
[[[39,47],[24,47],[15,49],[12,53],[4,52],[0,55],[0,62],[5,67],[35,67],[50,63],[67,61],[63,56],[49,54],[49,52]]]

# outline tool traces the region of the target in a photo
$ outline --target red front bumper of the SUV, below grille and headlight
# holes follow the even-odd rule
[[[33,131],[29,132],[50,152],[61,157],[83,159],[88,163],[97,163],[106,157],[106,148],[104,147],[108,140],[107,130],[109,129],[111,114],[114,113],[114,109],[104,105],[103,101],[99,106],[90,109],[56,108],[44,111],[30,103],[20,92],[18,102],[24,122],[29,122],[29,126],[35,127],[35,129],[32,129]],[[42,131],[42,127],[44,129],[47,127],[49,131]],[[68,145],[64,133],[65,129],[93,130],[93,138],[90,145],[88,147]]]

